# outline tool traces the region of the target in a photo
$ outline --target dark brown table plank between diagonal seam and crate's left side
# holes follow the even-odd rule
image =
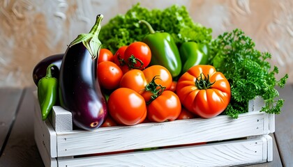
[[[33,88],[24,91],[24,98],[0,159],[1,166],[44,166],[33,138],[32,91]]]

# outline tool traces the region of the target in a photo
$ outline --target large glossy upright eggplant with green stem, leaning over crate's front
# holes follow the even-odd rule
[[[73,124],[86,130],[93,130],[107,117],[107,104],[96,75],[100,22],[89,33],[80,34],[68,45],[59,72],[59,99],[61,106],[73,114]]]

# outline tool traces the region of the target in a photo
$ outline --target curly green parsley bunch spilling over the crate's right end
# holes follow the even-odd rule
[[[276,86],[283,88],[288,75],[277,81],[278,67],[271,69],[270,58],[268,52],[255,49],[253,40],[240,29],[223,33],[211,42],[210,62],[231,86],[232,99],[225,114],[238,118],[239,113],[248,111],[248,101],[257,96],[264,99],[262,111],[280,113],[284,100],[275,100],[279,96]]]

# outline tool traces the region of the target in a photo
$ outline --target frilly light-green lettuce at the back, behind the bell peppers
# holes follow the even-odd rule
[[[170,33],[176,45],[190,40],[202,43],[212,40],[211,29],[193,22],[185,6],[173,5],[163,10],[149,10],[137,3],[125,15],[113,17],[102,27],[99,38],[103,48],[114,53],[123,45],[142,41],[149,31],[147,27],[139,24],[141,19],[149,22],[153,29]]]

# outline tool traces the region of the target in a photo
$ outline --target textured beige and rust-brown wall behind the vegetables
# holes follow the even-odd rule
[[[0,0],[0,87],[31,86],[34,65],[63,53],[77,34],[89,31],[97,14],[105,16],[105,24],[137,2],[147,8],[185,5],[195,22],[213,29],[214,37],[242,29],[258,49],[271,52],[278,77],[288,73],[293,83],[292,0]]]

